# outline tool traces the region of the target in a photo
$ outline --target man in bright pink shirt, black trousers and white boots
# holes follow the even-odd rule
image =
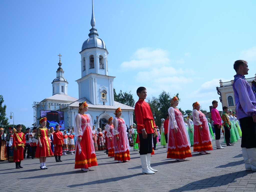
[[[220,128],[221,128],[221,118],[219,111],[216,109],[218,106],[218,101],[214,100],[212,101],[213,108],[211,109],[211,119],[213,120],[213,126],[215,130],[215,143],[216,143],[216,149],[224,149],[224,147],[221,147],[220,145]]]

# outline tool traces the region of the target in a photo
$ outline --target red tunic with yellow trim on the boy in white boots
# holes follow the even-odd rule
[[[137,132],[142,133],[142,129],[146,130],[147,134],[154,133],[156,127],[150,106],[144,99],[139,99],[134,108],[135,120],[137,122]]]

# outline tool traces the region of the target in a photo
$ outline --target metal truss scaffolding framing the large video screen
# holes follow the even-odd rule
[[[37,126],[37,105],[48,105],[48,106],[64,106],[67,107],[67,118],[68,118],[68,127],[71,127],[71,120],[70,120],[70,104],[67,103],[46,103],[46,102],[34,102],[33,109],[34,109],[34,127]],[[66,128],[66,127],[65,127]]]

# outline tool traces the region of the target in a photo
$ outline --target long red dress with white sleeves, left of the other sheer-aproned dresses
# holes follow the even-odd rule
[[[75,118],[74,132],[77,137],[75,152],[75,169],[97,166],[93,140],[92,120],[90,115],[78,113]],[[82,137],[79,142],[78,138]]]

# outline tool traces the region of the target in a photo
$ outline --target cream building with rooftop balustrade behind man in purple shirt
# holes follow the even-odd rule
[[[246,78],[246,81],[251,85],[252,80],[255,80],[255,77]],[[220,95],[220,102],[223,106],[227,106],[232,111],[236,111],[236,103],[234,98],[234,91],[233,91],[233,82],[234,80],[228,82],[222,82],[220,79],[220,87],[216,87],[218,95]]]

